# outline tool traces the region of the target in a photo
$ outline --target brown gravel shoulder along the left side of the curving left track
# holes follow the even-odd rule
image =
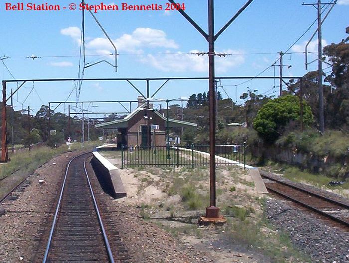
[[[35,260],[41,237],[49,227],[48,218],[54,210],[65,167],[78,154],[70,152],[53,158],[0,205],[6,211],[0,217],[1,263],[42,261]],[[39,184],[39,180],[44,183]]]

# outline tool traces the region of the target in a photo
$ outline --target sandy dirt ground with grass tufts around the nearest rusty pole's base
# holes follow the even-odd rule
[[[121,166],[115,153],[101,152],[112,164]],[[224,226],[199,226],[198,218],[205,214],[209,204],[209,170],[199,167],[154,168],[139,167],[120,170],[127,197],[113,202],[137,207],[141,216],[169,231],[180,242],[209,253],[216,263],[269,263],[270,253],[264,253],[263,244],[252,241],[251,231],[237,230],[240,225],[255,225],[263,217],[263,201],[269,196],[255,191],[248,170],[240,167],[217,167],[217,206],[221,208],[228,222]],[[183,201],[183,189],[197,194],[193,200]],[[190,193],[189,193],[190,195]],[[245,224],[246,222],[246,224]],[[234,233],[236,232],[236,233]],[[277,231],[263,226],[266,240],[278,241]],[[251,240],[252,239],[252,240]],[[273,246],[270,243],[268,246]],[[282,247],[284,245],[280,245]],[[288,250],[284,247],[281,250]],[[273,254],[273,252],[272,252]],[[284,261],[302,262],[285,254]],[[275,257],[274,257],[275,258]]]

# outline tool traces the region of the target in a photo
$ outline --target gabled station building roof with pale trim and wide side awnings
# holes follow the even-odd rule
[[[164,117],[163,115],[161,115],[158,111],[156,111],[154,109],[144,108],[144,106],[146,106],[146,104],[147,103],[144,103],[141,106],[137,107],[133,112],[131,112],[129,115],[127,115],[124,119],[106,122],[106,123],[101,123],[101,124],[96,124],[95,127],[96,128],[106,128],[106,129],[127,128],[128,121],[131,120],[132,117],[134,117],[138,112],[143,111],[143,110],[153,111],[155,114],[157,114],[165,122],[167,121],[167,118]],[[197,127],[197,124],[169,118],[169,127]]]

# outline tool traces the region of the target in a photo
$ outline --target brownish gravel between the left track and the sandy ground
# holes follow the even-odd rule
[[[140,217],[140,211],[102,194],[93,169],[88,172],[94,189],[107,234],[118,231],[123,246],[128,250],[132,263],[203,263],[214,262],[205,252],[181,244],[169,233]],[[109,238],[109,237],[108,237]],[[110,237],[112,238],[112,237]],[[113,248],[112,248],[113,249]],[[114,253],[114,251],[113,251]],[[117,259],[117,250],[114,253]]]

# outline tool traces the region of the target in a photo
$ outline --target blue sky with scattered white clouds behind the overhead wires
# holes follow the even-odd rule
[[[46,79],[77,78],[83,68],[80,58],[82,11],[69,10],[69,4],[79,0],[24,0],[28,3],[59,5],[60,11],[6,10],[6,3],[16,5],[19,0],[4,0],[0,3],[0,78]],[[117,47],[118,70],[103,62],[84,70],[84,78],[166,78],[207,77],[207,55],[192,53],[207,52],[205,38],[176,10],[165,11],[167,0],[86,0],[98,5],[117,5],[118,11],[98,11],[96,18]],[[185,12],[207,32],[207,1],[182,0]],[[247,2],[247,0],[215,0],[215,32]],[[219,36],[215,43],[216,53],[231,54],[216,56],[216,77],[279,76],[279,67],[271,65],[279,58],[278,52],[288,51],[283,56],[285,77],[303,76],[316,70],[317,63],[305,70],[304,46],[316,30],[317,10],[302,3],[315,0],[254,0],[241,15]],[[325,3],[325,1],[322,1]],[[331,2],[328,0],[326,2]],[[128,5],[163,6],[163,10],[126,11]],[[67,9],[63,9],[66,7]],[[326,6],[324,7],[324,9]],[[327,10],[324,10],[323,16]],[[323,46],[338,43],[346,37],[349,26],[349,0],[338,0],[322,27]],[[310,27],[311,26],[311,27]],[[310,29],[309,29],[310,27]],[[304,34],[304,35],[303,35]],[[303,35],[303,36],[302,36]],[[302,37],[301,37],[302,36]],[[300,38],[300,39],[299,39]],[[296,43],[295,41],[299,39]],[[317,56],[317,36],[309,46],[309,61]],[[101,60],[114,63],[112,45],[99,28],[92,15],[85,12],[86,63]],[[37,56],[38,58],[28,58]],[[80,62],[80,63],[79,63]],[[276,62],[279,65],[279,61]],[[329,72],[327,64],[324,71]],[[265,71],[264,71],[265,70]],[[285,79],[286,80],[286,79]],[[145,81],[132,82],[142,93],[146,92]],[[151,81],[153,94],[163,81]],[[18,84],[7,84],[10,89]],[[243,103],[239,96],[248,89],[272,96],[278,94],[279,80],[222,80],[219,91],[223,98],[228,96]],[[27,82],[14,95],[14,109],[30,106],[34,112],[42,104],[55,101],[76,101],[79,83]],[[285,87],[284,87],[285,88]],[[189,97],[193,93],[208,90],[208,80],[169,81],[154,96],[156,99]],[[70,97],[69,97],[70,95]],[[93,100],[136,100],[139,94],[126,81],[83,81],[79,101]],[[75,105],[75,104],[74,104]],[[126,105],[126,104],[125,104]],[[54,108],[55,106],[53,106]],[[73,106],[72,106],[73,107]],[[123,111],[117,104],[79,104],[89,111]],[[56,111],[67,113],[67,104]],[[72,108],[73,109],[73,108]],[[81,111],[76,109],[76,111]],[[101,116],[101,115],[98,115]]]

